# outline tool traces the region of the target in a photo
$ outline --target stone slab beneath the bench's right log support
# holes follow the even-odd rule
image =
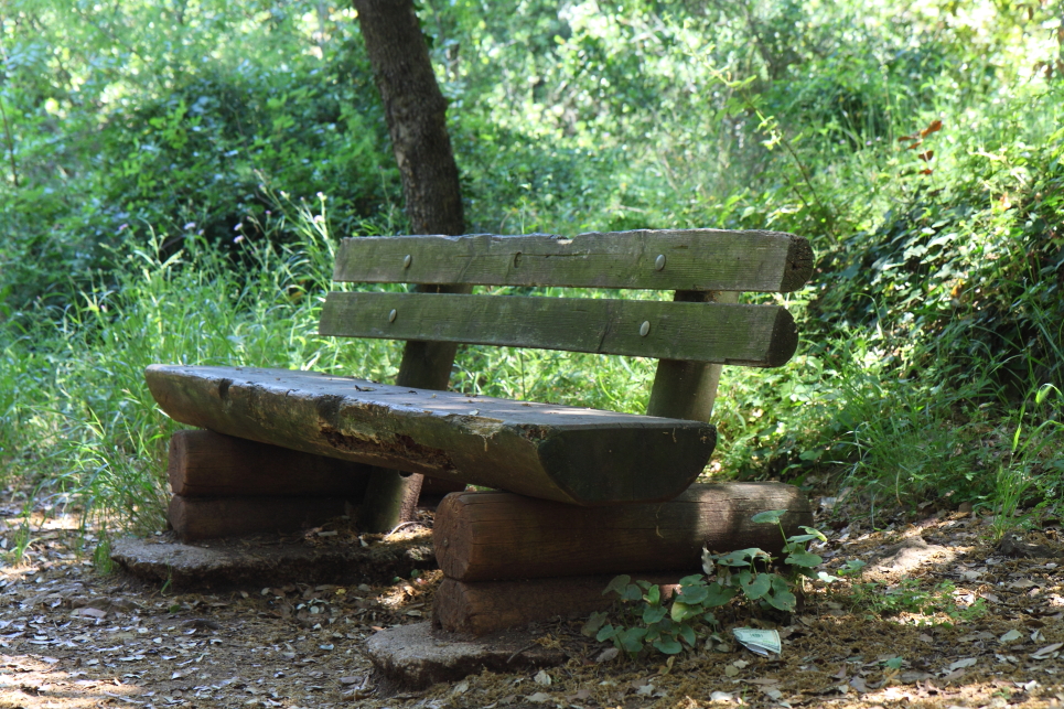
[[[427,621],[379,631],[366,642],[366,652],[379,675],[378,690],[387,695],[458,681],[484,669],[512,673],[566,662],[562,651],[534,641],[534,635],[523,631],[473,640],[433,629]]]

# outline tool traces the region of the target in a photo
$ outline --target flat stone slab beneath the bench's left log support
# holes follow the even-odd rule
[[[357,538],[318,544],[279,535],[182,544],[172,534],[116,539],[111,560],[147,581],[174,588],[302,583],[388,583],[437,568],[429,533],[393,535],[363,547]],[[323,540],[324,541],[324,540]]]

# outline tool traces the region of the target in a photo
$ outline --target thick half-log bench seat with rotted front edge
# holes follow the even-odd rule
[[[708,462],[716,429],[684,421],[314,372],[152,365],[171,418],[308,453],[555,499],[670,499]]]

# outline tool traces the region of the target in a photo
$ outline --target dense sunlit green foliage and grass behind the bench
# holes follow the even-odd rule
[[[884,505],[927,501],[989,507],[996,534],[1054,512],[1064,101],[1051,4],[418,11],[471,230],[813,240],[808,288],[744,296],[786,302],[804,341],[780,369],[726,368],[722,474],[850,487],[873,524]],[[313,336],[335,237],[405,226],[352,10],[12,0],[0,47],[9,477],[40,484],[49,509],[157,528],[173,425],[144,364],[394,374],[394,344]],[[452,386],[642,411],[653,373],[469,347]]]

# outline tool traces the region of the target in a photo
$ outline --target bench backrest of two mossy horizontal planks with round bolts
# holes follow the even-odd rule
[[[337,255],[336,281],[640,289],[675,296],[655,301],[332,292],[320,333],[773,367],[786,363],[797,347],[791,314],[780,305],[714,301],[728,300],[719,297],[722,291],[794,291],[812,272],[806,239],[778,232],[347,238]]]

